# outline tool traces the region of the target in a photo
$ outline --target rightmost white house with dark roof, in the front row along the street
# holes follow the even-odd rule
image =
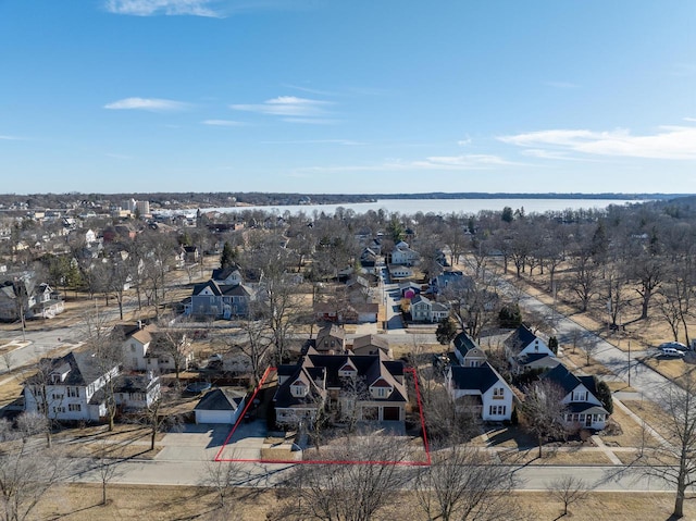
[[[562,389],[564,396],[561,401],[568,406],[563,420],[569,429],[601,431],[605,427],[609,412],[597,398],[597,381],[594,376],[575,376],[559,363],[540,377]]]

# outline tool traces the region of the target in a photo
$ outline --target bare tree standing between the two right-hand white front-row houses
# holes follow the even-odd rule
[[[561,401],[563,397],[563,389],[548,380],[539,380],[526,388],[522,419],[525,429],[538,442],[539,458],[545,441],[566,434],[563,419],[568,406]]]

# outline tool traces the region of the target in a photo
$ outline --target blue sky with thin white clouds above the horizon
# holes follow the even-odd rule
[[[0,0],[0,193],[696,193],[696,2]]]

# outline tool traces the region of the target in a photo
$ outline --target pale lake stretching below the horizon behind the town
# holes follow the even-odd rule
[[[208,208],[204,211],[219,211],[223,213],[240,212],[244,210],[264,210],[266,212],[283,215],[286,211],[291,214],[304,212],[312,215],[314,211],[333,215],[338,207],[351,209],[356,213],[365,213],[370,210],[383,209],[388,213],[402,214],[423,213],[478,213],[482,210],[502,211],[505,207],[513,210],[524,208],[525,213],[544,213],[547,211],[563,211],[567,209],[598,209],[602,210],[610,204],[626,204],[642,202],[625,199],[382,199],[375,202],[346,202],[343,204],[288,204],[268,207],[233,207]],[[201,209],[202,210],[202,209]]]

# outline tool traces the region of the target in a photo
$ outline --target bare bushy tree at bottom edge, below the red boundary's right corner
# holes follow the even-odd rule
[[[509,466],[496,464],[486,451],[453,445],[434,451],[419,470],[413,488],[427,519],[495,521],[522,519],[511,498],[517,480]]]

